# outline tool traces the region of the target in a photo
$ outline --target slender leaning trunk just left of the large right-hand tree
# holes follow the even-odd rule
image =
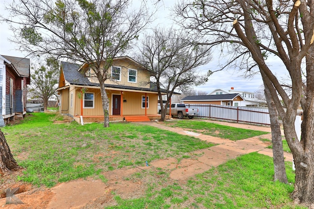
[[[283,150],[283,141],[281,137],[280,123],[278,120],[277,109],[274,101],[271,98],[270,92],[265,86],[265,97],[269,110],[270,127],[271,127],[271,140],[273,143],[273,161],[274,161],[274,181],[280,181],[287,184],[287,174]]]

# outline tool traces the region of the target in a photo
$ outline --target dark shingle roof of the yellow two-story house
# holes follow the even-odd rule
[[[125,57],[123,57],[123,58],[125,58]],[[68,85],[97,86],[97,87],[100,86],[99,83],[90,82],[88,80],[88,78],[83,73],[78,71],[80,68],[80,65],[75,64],[75,63],[68,63],[68,62],[61,62],[61,65],[62,65],[62,69],[63,69],[64,79],[66,82],[68,82]],[[150,82],[150,88],[124,86],[124,85],[118,85],[118,84],[117,85],[105,84],[105,87],[116,88],[116,89],[128,89],[128,90],[157,92],[157,86],[152,82]],[[165,90],[161,90],[161,92],[165,92]],[[180,94],[180,93],[174,92],[174,94]]]

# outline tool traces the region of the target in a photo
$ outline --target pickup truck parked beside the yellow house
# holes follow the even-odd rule
[[[167,115],[170,113],[170,108],[168,105]],[[171,104],[171,116],[178,116],[179,119],[182,119],[184,116],[192,119],[194,116],[198,116],[198,108],[187,108],[185,104],[172,103]]]

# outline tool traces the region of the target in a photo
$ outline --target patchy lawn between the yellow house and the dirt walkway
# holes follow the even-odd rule
[[[175,157],[214,144],[134,123],[77,122],[53,124],[57,114],[36,113],[18,125],[2,128],[17,162],[26,168],[19,180],[54,186],[58,182],[98,176],[102,171]]]

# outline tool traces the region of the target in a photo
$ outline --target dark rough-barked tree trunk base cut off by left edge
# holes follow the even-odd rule
[[[20,166],[14,160],[9,145],[6,143],[5,137],[0,130],[0,174],[3,175],[19,168]]]

